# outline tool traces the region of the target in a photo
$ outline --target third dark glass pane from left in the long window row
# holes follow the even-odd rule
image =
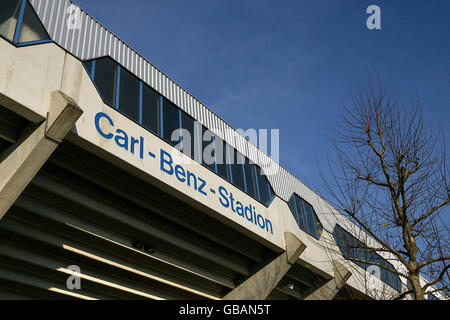
[[[142,125],[154,133],[159,133],[160,95],[144,85],[142,88]]]

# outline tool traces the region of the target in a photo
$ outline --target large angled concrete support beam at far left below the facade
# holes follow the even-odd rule
[[[60,91],[52,94],[49,110],[44,122],[27,128],[0,154],[0,220],[83,113]]]

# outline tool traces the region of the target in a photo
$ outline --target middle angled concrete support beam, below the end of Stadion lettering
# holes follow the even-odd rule
[[[223,300],[264,300],[294,265],[306,246],[285,232],[286,251],[228,293]]]

